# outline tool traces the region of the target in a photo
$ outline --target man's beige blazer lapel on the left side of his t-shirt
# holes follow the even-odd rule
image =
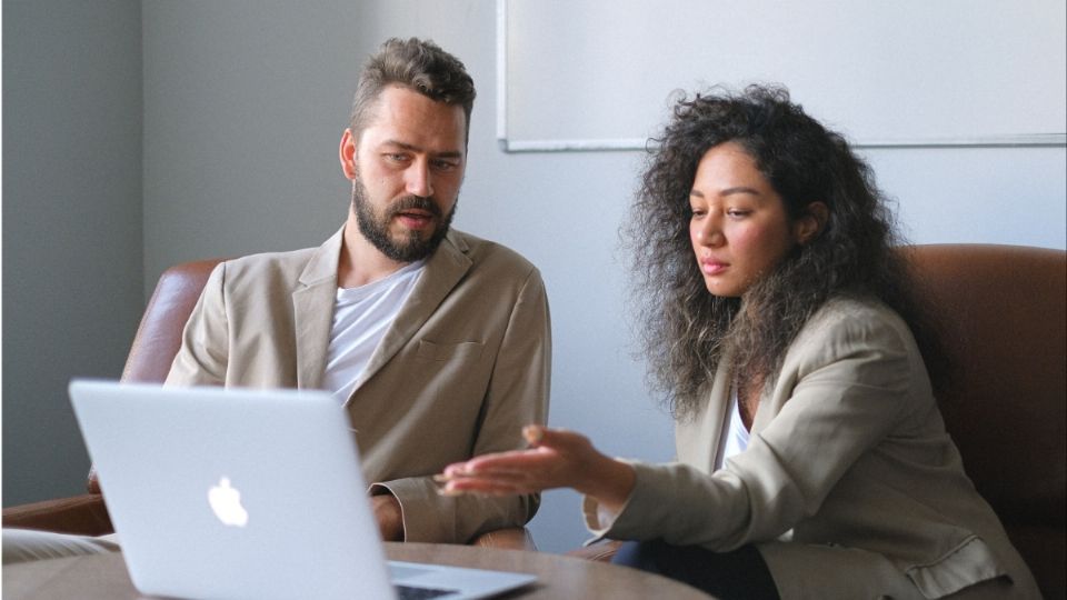
[[[292,292],[297,387],[300,389],[317,389],[322,386],[330,328],[333,323],[337,263],[343,231],[342,227],[315,251],[300,273],[300,284]]]

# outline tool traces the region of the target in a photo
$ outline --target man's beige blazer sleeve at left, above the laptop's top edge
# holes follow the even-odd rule
[[[200,299],[182,330],[181,348],[170,366],[166,386],[222,386],[229,362],[229,322],[226,316],[226,262],[211,270]]]

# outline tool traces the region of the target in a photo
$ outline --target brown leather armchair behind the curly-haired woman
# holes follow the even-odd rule
[[[1067,252],[993,244],[901,251],[955,363],[939,402],[967,474],[1045,598],[1065,598]],[[617,547],[570,554],[610,560]]]

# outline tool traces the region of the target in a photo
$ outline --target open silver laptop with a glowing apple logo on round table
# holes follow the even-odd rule
[[[134,587],[179,598],[486,598],[535,576],[387,561],[325,391],[73,380]]]

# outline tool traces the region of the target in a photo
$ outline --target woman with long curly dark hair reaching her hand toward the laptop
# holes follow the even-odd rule
[[[634,540],[617,562],[721,598],[1039,597],[945,432],[866,163],[759,87],[682,98],[657,141],[630,233],[678,462],[529,427],[442,492],[575,488],[591,531]]]

